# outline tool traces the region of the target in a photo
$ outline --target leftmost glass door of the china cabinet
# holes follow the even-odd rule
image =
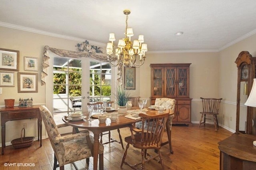
[[[155,67],[152,69],[153,81],[152,81],[152,96],[163,97],[164,96],[164,70],[161,67]]]

